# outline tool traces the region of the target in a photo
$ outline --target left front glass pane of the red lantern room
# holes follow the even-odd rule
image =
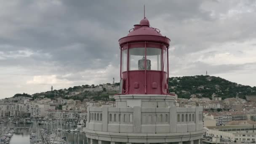
[[[145,48],[131,48],[129,54],[129,70],[144,70]]]

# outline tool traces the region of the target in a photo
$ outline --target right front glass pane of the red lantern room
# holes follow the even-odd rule
[[[161,70],[161,49],[147,48],[147,60],[150,61],[150,70]]]

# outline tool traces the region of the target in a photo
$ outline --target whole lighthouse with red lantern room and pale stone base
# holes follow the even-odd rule
[[[202,143],[203,107],[177,108],[168,92],[170,39],[147,18],[129,32],[119,40],[116,107],[88,107],[88,144]]]

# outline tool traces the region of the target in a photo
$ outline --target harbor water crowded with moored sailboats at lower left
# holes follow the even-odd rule
[[[72,125],[9,122],[0,128],[0,144],[87,144],[81,128]]]

